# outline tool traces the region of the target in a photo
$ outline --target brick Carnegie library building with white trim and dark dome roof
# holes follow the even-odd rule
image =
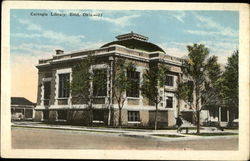
[[[187,121],[193,122],[193,110],[182,100],[177,99],[177,80],[182,77],[183,59],[168,55],[161,47],[150,43],[148,37],[128,33],[119,35],[117,40],[104,44],[95,50],[64,53],[56,50],[52,58],[39,60],[38,69],[38,93],[37,106],[35,108],[35,120],[37,121],[64,121],[69,120],[84,124],[87,114],[87,102],[74,100],[67,83],[71,82],[73,67],[85,59],[88,55],[98,57],[98,62],[92,65],[93,70],[105,70],[102,92],[99,92],[93,101],[93,122],[111,125],[118,124],[118,104],[110,101],[112,96],[112,80],[115,76],[114,60],[125,59],[135,65],[136,70],[127,73],[129,79],[136,80],[132,90],[126,91],[126,100],[122,108],[123,126],[150,126],[154,122],[155,105],[142,96],[140,83],[143,72],[150,68],[152,63],[164,63],[169,67],[166,75],[165,86],[160,90],[162,97],[158,109],[158,124],[162,127],[171,127],[176,123],[179,113]],[[111,110],[112,109],[112,110]],[[111,111],[111,117],[109,117]],[[224,112],[225,113],[225,112]],[[224,114],[223,113],[223,114]],[[210,116],[208,110],[201,112],[201,122],[216,120],[218,116]],[[225,122],[228,121],[228,113],[225,113]]]

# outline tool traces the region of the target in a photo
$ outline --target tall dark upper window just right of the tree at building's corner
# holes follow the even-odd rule
[[[131,88],[126,91],[127,97],[139,97],[140,72],[128,71],[127,77],[131,81]]]

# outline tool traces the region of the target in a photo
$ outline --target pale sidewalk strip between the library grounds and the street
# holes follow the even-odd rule
[[[109,134],[117,134],[119,136],[148,138],[148,139],[163,139],[163,140],[192,140],[192,139],[209,139],[217,137],[235,137],[235,136],[199,136],[192,135],[196,130],[189,130],[186,134],[185,130],[182,133],[177,133],[176,129],[173,130],[147,130],[147,129],[128,129],[128,128],[107,128],[107,127],[86,127],[86,126],[71,126],[71,125],[53,125],[41,122],[12,122],[13,127],[26,127],[26,128],[39,128],[39,129],[55,129],[55,130],[72,130],[81,132],[102,132]],[[215,130],[212,127],[203,127],[201,133],[234,133],[237,134],[238,130]]]

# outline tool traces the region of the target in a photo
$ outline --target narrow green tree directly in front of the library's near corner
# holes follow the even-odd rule
[[[127,98],[126,91],[131,89],[131,80],[126,76],[126,71],[135,71],[135,66],[129,62],[127,63],[124,59],[115,59],[114,61],[114,76],[113,76],[113,97],[118,104],[119,115],[118,125],[122,126],[122,108]]]

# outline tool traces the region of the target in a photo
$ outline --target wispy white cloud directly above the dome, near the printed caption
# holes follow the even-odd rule
[[[137,17],[140,17],[140,15],[129,15],[129,16],[122,16],[119,18],[93,16],[93,17],[90,17],[90,19],[94,21],[109,22],[119,27],[127,27],[127,26],[132,25],[131,20]]]

